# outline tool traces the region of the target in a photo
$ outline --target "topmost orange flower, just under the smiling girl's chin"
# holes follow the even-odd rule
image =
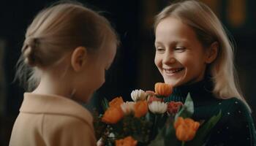
[[[173,92],[173,87],[162,82],[157,82],[154,85],[154,91],[159,96],[170,96],[170,94]]]

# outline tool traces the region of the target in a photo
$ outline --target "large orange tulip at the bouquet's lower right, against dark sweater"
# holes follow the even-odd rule
[[[195,134],[199,126],[200,123],[195,122],[191,118],[184,119],[178,117],[178,119],[174,123],[177,139],[183,142],[192,140],[195,137]]]

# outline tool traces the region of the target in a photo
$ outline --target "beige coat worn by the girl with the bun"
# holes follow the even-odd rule
[[[88,110],[75,101],[24,93],[10,146],[96,145],[92,122]]]

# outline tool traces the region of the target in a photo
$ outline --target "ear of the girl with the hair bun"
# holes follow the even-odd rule
[[[86,64],[88,51],[86,47],[77,47],[71,55],[71,66],[75,72],[79,72]]]

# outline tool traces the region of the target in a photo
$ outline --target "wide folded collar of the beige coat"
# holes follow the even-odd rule
[[[89,123],[91,126],[93,122],[91,113],[85,107],[75,101],[56,95],[25,93],[20,112],[44,115],[45,122],[60,123],[76,119]],[[53,121],[51,118],[61,118],[61,120]]]

